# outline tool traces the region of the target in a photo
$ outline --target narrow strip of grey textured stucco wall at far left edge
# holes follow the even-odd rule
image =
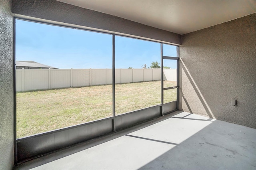
[[[13,18],[11,1],[0,0],[0,169],[14,164]]]

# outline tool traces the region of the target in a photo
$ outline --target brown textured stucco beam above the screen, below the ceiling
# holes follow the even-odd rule
[[[45,20],[107,30],[112,33],[180,44],[179,34],[55,0],[13,0],[12,12]]]

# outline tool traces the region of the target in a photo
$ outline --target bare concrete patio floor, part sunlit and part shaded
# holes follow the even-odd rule
[[[256,170],[256,129],[178,111],[15,169]]]

